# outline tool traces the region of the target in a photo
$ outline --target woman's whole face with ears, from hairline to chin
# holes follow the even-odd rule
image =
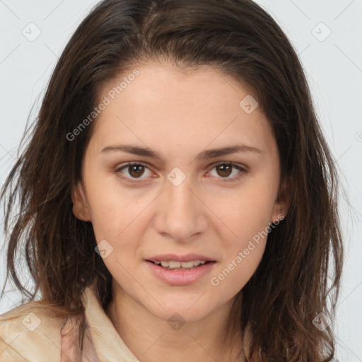
[[[199,320],[245,286],[285,215],[276,141],[233,78],[135,68],[100,95],[74,214],[93,224],[117,298]]]

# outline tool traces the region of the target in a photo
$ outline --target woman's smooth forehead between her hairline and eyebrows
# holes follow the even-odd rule
[[[103,87],[98,99],[105,98],[109,102],[95,122],[99,146],[132,140],[167,151],[170,146],[188,150],[243,141],[264,149],[273,141],[257,103],[252,112],[245,108],[253,99],[250,91],[208,66],[136,65]]]

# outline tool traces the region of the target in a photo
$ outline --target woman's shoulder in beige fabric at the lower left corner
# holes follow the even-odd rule
[[[40,302],[25,303],[0,315],[1,362],[60,361],[59,317]]]

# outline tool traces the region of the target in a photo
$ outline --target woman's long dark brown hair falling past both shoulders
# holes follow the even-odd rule
[[[250,0],[105,0],[95,6],[66,45],[30,141],[1,192],[6,281],[10,275],[30,301],[40,292],[42,303],[64,315],[83,314],[80,296],[93,282],[103,308],[109,303],[112,276],[94,250],[91,223],[74,216],[71,202],[97,120],[74,139],[67,134],[93,112],[107,82],[149,59],[180,68],[213,66],[247,86],[269,119],[281,182],[288,180],[288,215],[270,230],[230,325],[243,331],[247,361],[330,361],[332,325],[320,330],[313,320],[320,313],[333,320],[339,293],[337,166],[296,51]],[[18,279],[17,253],[25,255],[33,291]]]

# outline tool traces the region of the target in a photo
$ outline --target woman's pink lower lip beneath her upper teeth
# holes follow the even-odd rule
[[[197,281],[202,278],[202,276],[208,274],[215,264],[215,262],[208,262],[194,269],[171,270],[153,264],[153,262],[146,262],[158,278],[173,286],[185,286],[194,283],[194,281]]]

